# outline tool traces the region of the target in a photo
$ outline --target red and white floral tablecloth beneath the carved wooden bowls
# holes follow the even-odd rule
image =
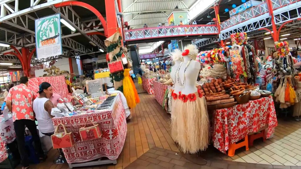
[[[226,153],[230,143],[243,139],[248,133],[257,132],[268,125],[266,138],[274,133],[278,125],[272,96],[235,105],[214,112],[212,132],[213,145]]]

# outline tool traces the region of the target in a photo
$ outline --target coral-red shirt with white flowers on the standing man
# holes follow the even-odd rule
[[[20,84],[11,88],[6,100],[12,103],[13,121],[20,119],[35,120],[33,114],[33,92],[25,85]]]

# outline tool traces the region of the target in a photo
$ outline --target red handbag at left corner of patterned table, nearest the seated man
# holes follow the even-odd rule
[[[57,133],[59,126],[63,126],[64,132]],[[74,140],[72,137],[72,132],[68,133],[63,124],[59,124],[54,131],[54,134],[51,135],[52,146],[54,149],[72,147],[74,145]]]

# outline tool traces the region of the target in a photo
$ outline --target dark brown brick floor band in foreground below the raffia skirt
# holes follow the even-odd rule
[[[164,156],[162,156],[164,155]],[[195,164],[189,158],[184,158],[180,153],[154,147],[141,155],[137,160],[129,164],[125,169],[272,169],[288,168],[298,169],[300,167],[279,166],[271,164],[253,164],[236,161],[214,160],[205,161],[203,165]]]

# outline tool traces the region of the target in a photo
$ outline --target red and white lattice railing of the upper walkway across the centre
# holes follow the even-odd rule
[[[154,28],[130,29],[124,31],[125,41],[163,38],[172,36],[189,35],[217,35],[216,25],[182,25],[182,26],[163,26]]]

